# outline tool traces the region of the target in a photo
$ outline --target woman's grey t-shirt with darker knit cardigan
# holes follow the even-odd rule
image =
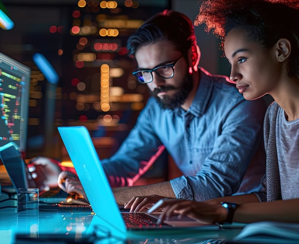
[[[284,110],[274,101],[264,119],[266,174],[261,202],[299,198],[299,119],[287,121]]]

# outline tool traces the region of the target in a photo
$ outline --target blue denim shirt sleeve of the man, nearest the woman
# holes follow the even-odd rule
[[[237,192],[253,155],[263,150],[265,108],[259,107],[259,104],[242,101],[225,112],[213,150],[201,169],[195,176],[182,176],[170,181],[177,198],[205,201]],[[264,164],[264,157],[261,158],[263,161],[258,163]],[[264,166],[260,168],[263,170],[262,177]]]

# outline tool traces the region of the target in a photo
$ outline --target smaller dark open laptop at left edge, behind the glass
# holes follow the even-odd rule
[[[9,142],[0,147],[0,159],[11,180],[14,192],[17,192],[18,188],[37,188],[37,184],[35,183],[26,162],[23,160],[20,148],[16,143]],[[46,195],[47,192],[39,192],[39,197],[46,199]],[[92,212],[92,208],[88,204],[67,204],[66,198],[57,199],[57,202],[55,203],[40,203],[39,210],[54,212]]]

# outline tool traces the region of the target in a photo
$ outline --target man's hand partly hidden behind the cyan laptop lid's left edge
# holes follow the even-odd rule
[[[58,176],[59,187],[69,194],[76,194],[88,201],[79,178],[70,171],[62,171]]]

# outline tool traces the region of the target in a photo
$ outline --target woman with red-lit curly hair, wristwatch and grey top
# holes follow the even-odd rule
[[[195,25],[221,39],[230,80],[247,100],[270,94],[264,119],[266,174],[262,189],[206,202],[163,199],[164,209],[207,223],[299,222],[298,0],[205,0]],[[246,113],[246,111],[244,111]]]

